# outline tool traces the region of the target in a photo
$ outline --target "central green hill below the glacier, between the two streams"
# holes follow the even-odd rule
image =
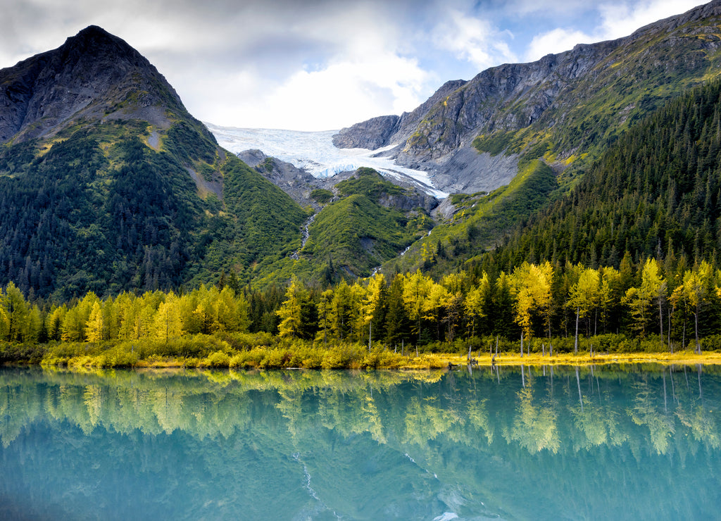
[[[257,158],[259,152],[241,155]],[[273,178],[283,169],[292,172],[290,165],[273,158],[255,168]],[[288,177],[283,179],[280,186],[288,182]],[[291,182],[301,179],[293,176]],[[320,286],[369,277],[433,228],[430,214],[438,200],[391,182],[374,169],[361,167],[315,182],[322,182],[322,187],[310,192],[306,187],[304,192],[316,213],[304,225],[301,246],[259,272],[258,287],[285,283],[293,275]],[[297,193],[287,186],[286,190]]]

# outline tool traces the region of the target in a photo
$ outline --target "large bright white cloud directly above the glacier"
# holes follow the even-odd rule
[[[288,63],[272,81],[255,71],[242,82],[218,77],[215,85],[226,92],[223,107],[213,107],[218,100],[205,97],[198,112],[218,125],[335,130],[412,110],[428,97],[429,82],[438,81],[403,55],[399,27],[364,5],[296,19],[285,34],[303,35],[319,49],[317,58]],[[197,102],[195,95],[188,99],[191,112]]]

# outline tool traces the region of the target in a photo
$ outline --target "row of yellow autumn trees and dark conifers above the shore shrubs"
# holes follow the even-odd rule
[[[523,262],[510,272],[476,266],[438,280],[420,271],[377,273],[329,288],[292,277],[284,288],[256,291],[221,276],[218,285],[187,293],[99,298],[90,292],[52,306],[27,300],[13,282],[0,293],[0,339],[23,343],[168,342],[265,331],[319,347],[459,350],[497,338],[528,352],[550,351],[554,341],[558,346],[557,339],[566,339],[566,349],[578,352],[580,339],[619,335],[606,343],[631,342],[611,349],[653,339],[655,350],[700,352],[704,343],[717,348],[720,325],[721,270],[708,262],[689,266],[685,257],[633,262],[629,254],[619,269]]]

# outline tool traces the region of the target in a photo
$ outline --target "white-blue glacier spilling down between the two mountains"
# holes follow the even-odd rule
[[[305,169],[314,177],[330,177],[338,172],[350,172],[361,166],[376,169],[381,174],[406,182],[414,182],[424,192],[442,199],[448,193],[436,189],[427,172],[394,164],[387,157],[373,157],[385,151],[366,148],[337,148],[333,135],[337,130],[302,132],[267,128],[232,128],[205,123],[218,144],[233,153],[252,148]],[[390,147],[389,147],[390,148]]]

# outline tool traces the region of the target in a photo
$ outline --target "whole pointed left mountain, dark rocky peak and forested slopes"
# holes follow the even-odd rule
[[[0,71],[0,284],[68,299],[249,282],[307,215],[130,45],[87,27]]]

